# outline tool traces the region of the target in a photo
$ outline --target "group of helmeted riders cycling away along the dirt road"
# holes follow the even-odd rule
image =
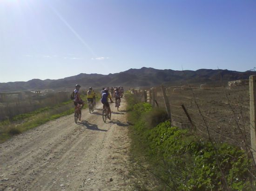
[[[73,99],[75,109],[77,109],[79,104],[81,104],[81,107],[84,106],[84,102],[82,101],[80,93],[79,93],[80,88],[81,88],[81,86],[79,84],[75,85],[74,99]],[[105,109],[107,107],[108,113],[111,112],[108,100],[110,100],[113,103],[112,97],[115,97],[115,107],[117,107],[116,103],[117,103],[118,99],[119,99],[119,106],[120,106],[123,93],[124,93],[124,89],[123,89],[123,87],[120,87],[120,86],[115,87],[115,88],[111,87],[110,89],[109,89],[109,87],[102,88],[101,103],[103,104],[103,109]],[[88,101],[88,103],[94,103],[95,99],[96,99],[96,93],[94,92],[93,88],[90,87],[87,92],[87,101]]]

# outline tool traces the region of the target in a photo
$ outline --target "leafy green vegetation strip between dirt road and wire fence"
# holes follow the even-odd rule
[[[215,144],[216,156],[208,140],[195,137],[189,129],[171,127],[165,121],[165,111],[138,102],[131,94],[126,97],[128,121],[132,124],[131,157],[135,163],[147,164],[147,169],[162,180],[155,190],[225,190],[217,159],[231,190],[255,188],[255,181],[249,181],[252,161],[248,163],[244,150],[226,143]]]

